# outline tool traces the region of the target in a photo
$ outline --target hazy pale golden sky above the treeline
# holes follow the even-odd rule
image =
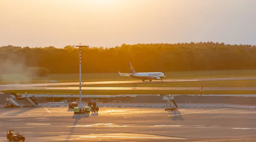
[[[256,45],[256,0],[0,0],[0,46]]]

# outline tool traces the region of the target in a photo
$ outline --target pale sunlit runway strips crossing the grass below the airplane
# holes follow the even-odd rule
[[[227,80],[254,80],[250,78],[202,78],[202,79],[173,79],[153,82],[180,82],[180,81],[227,81]],[[127,84],[149,83],[142,81],[101,81],[83,82],[83,84]],[[70,83],[44,83],[44,84],[6,84],[0,85],[1,90],[79,90],[79,87],[54,87],[66,85],[79,85],[78,82]],[[82,87],[82,90],[200,90],[200,87]],[[205,87],[204,90],[256,90],[254,87]]]

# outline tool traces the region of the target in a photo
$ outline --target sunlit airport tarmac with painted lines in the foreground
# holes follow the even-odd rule
[[[73,114],[67,107],[0,109],[0,142],[6,130],[26,142],[255,142],[256,111],[236,108],[108,108]]]

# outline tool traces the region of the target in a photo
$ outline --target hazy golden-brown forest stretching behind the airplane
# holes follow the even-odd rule
[[[0,73],[79,73],[79,49],[0,47]],[[82,47],[82,73],[256,69],[256,46],[225,43],[122,44],[113,48]],[[30,70],[30,71],[29,71]],[[44,73],[43,73],[44,74]]]

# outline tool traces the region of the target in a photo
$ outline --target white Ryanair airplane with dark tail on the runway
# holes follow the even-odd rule
[[[128,65],[129,65],[130,73],[120,73],[119,72],[119,75],[121,75],[121,76],[131,76],[133,78],[142,79],[143,82],[145,80],[149,80],[151,82],[152,79],[162,81],[163,78],[165,78],[165,76],[166,76],[162,72],[135,72],[133,67],[131,66],[130,62],[128,62]]]

